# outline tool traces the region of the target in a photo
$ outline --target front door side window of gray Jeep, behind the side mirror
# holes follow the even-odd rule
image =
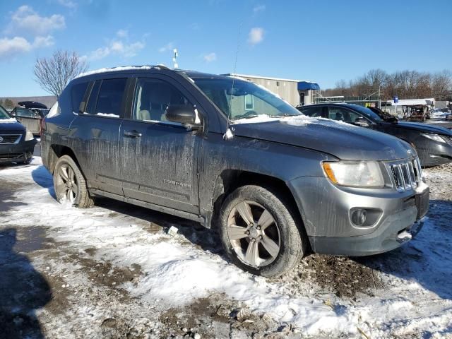
[[[133,119],[165,121],[169,105],[191,105],[189,100],[173,85],[157,79],[138,79]]]

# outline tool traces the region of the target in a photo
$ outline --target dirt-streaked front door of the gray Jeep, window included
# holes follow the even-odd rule
[[[197,155],[202,139],[165,119],[169,105],[193,104],[172,78],[137,78],[131,119],[124,119],[120,133],[125,196],[199,212]]]

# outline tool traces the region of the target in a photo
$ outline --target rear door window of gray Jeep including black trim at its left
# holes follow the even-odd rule
[[[122,117],[126,83],[127,78],[96,81],[90,93],[86,112],[106,117]]]

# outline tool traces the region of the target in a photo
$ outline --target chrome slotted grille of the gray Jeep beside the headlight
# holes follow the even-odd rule
[[[389,165],[394,184],[399,192],[416,189],[422,180],[422,169],[419,158],[405,160]]]

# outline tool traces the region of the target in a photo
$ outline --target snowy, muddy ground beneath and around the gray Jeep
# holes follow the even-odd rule
[[[0,327],[30,338],[452,338],[451,170],[425,171],[429,218],[402,248],[311,255],[266,280],[228,263],[196,223],[107,199],[60,205],[40,157],[0,167]]]

